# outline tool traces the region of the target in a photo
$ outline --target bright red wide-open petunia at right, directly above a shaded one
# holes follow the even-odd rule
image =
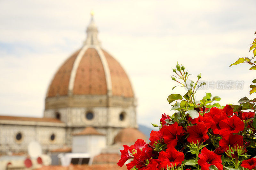
[[[244,122],[242,122],[236,115],[220,120],[220,134],[223,136],[228,133],[238,133],[244,130]]]

